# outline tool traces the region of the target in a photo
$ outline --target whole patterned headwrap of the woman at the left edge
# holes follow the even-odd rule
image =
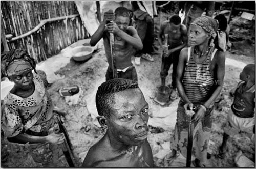
[[[35,65],[35,60],[24,50],[1,53],[1,71],[7,77],[35,69]]]

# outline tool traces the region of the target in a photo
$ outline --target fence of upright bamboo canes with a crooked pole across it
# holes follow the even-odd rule
[[[74,1],[1,1],[9,49],[25,49],[39,63],[88,38]]]

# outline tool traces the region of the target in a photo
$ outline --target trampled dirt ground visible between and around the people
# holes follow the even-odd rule
[[[231,52],[226,52],[226,68],[224,87],[221,92],[221,100],[215,104],[211,129],[211,138],[208,152],[215,154],[222,142],[222,126],[227,118],[227,111],[232,104],[233,97],[230,96],[230,89],[236,87],[239,82],[239,74],[242,68],[249,63],[255,63],[255,22],[250,22],[240,17],[233,18],[230,23],[232,43]],[[160,55],[153,56],[155,61],[148,62],[141,59],[141,65],[136,65],[139,87],[144,93],[145,99],[150,105],[150,114],[154,116],[162,106],[153,101],[156,87],[160,85]],[[97,87],[105,80],[105,72],[108,67],[104,55],[103,45],[94,52],[93,57],[84,63],[77,63],[70,60],[70,63],[61,68],[56,74],[65,75],[65,78],[54,82],[48,89],[54,104],[61,110],[67,112],[65,126],[69,132],[74,152],[82,163],[89,148],[95,144],[104,134],[104,129],[98,127],[94,120],[91,105]],[[169,71],[167,84],[171,82],[172,69]],[[60,97],[58,89],[78,85],[80,88],[80,98],[77,105],[68,105],[64,98]],[[173,102],[177,104],[178,100]],[[93,110],[92,110],[93,111]],[[150,126],[151,134],[148,141],[151,144],[154,162],[157,167],[170,167],[172,164],[163,158],[158,158],[163,147],[168,147],[170,135],[173,129],[163,129]],[[228,151],[225,159],[221,160],[214,155],[209,159],[212,167],[235,167],[234,157],[241,150],[249,159],[253,160],[255,145],[251,142],[247,133],[241,132],[237,136],[231,137],[228,142]],[[78,166],[80,166],[79,164]],[[32,157],[28,154],[28,149],[24,145],[12,144],[1,135],[1,167],[36,167]],[[179,165],[184,167],[184,165]]]

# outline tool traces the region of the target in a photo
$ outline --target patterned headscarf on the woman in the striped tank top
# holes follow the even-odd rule
[[[218,22],[214,18],[209,16],[201,16],[196,18],[190,25],[196,25],[202,27],[211,37],[216,37],[216,31],[218,30]]]

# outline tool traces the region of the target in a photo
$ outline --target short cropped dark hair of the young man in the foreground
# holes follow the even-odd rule
[[[110,117],[111,105],[115,104],[114,93],[139,88],[138,83],[129,79],[115,78],[102,83],[96,93],[96,107],[100,116]]]

